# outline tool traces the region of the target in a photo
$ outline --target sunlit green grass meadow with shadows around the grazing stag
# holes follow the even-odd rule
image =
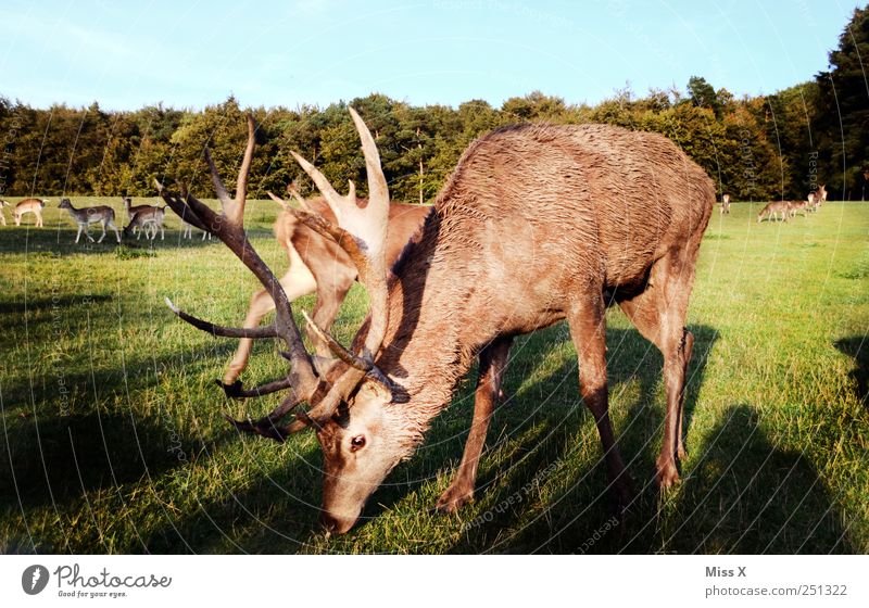
[[[470,375],[366,520],[329,539],[316,527],[313,434],[279,445],[228,428],[224,413],[262,415],[278,397],[227,401],[213,380],[232,341],[162,304],[168,295],[238,324],[250,274],[217,241],[180,241],[175,217],[153,249],[75,245],[55,205],[43,229],[0,228],[0,552],[869,552],[869,205],[831,203],[788,225],[758,225],[747,203],[716,211],[689,318],[690,454],[666,495],[653,483],[662,358],[610,311],[610,410],[639,493],[628,518],[609,519],[600,442],[558,325],[514,347],[476,503],[431,512],[462,454]],[[282,271],[276,211],[252,202],[249,227]],[[364,302],[354,289],[339,339]],[[245,378],[285,369],[262,343]]]

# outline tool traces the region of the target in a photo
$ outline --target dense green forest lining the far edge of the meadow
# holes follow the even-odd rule
[[[597,105],[532,92],[501,107],[473,100],[457,109],[413,106],[382,94],[350,101],[371,131],[392,197],[429,201],[478,136],[519,122],[607,123],[664,134],[734,200],[804,198],[826,183],[832,200],[864,200],[869,180],[869,94],[860,58],[869,56],[869,7],[858,9],[830,53],[830,71],[770,96],[736,99],[695,76],[685,90],[618,91]],[[260,151],[252,193],[282,192],[302,172],[298,151],[336,183],[365,188],[364,162],[345,103],[328,107],[242,109],[229,97],[203,111],[162,104],[108,112],[98,103],[34,109],[0,97],[0,194],[151,195],[152,178],[182,180],[211,194],[203,150],[224,175],[243,151],[243,114],[256,118]],[[308,185],[310,186],[310,185]]]

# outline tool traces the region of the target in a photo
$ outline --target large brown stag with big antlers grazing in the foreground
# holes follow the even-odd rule
[[[694,338],[684,327],[703,232],[715,205],[709,177],[665,137],[606,125],[519,125],[470,144],[441,189],[423,228],[395,265],[387,264],[389,190],[380,157],[362,118],[368,204],[360,207],[293,153],[315,181],[338,226],[310,212],[297,216],[337,242],[368,291],[369,316],[345,350],[308,318],[337,359],[305,351],[287,293],[251,246],[243,228],[255,125],[230,199],[206,160],[221,200],[218,215],[194,197],[158,182],[173,210],[194,215],[256,276],[276,303],[275,321],[256,329],[215,326],[167,304],[214,335],[280,338],[290,362],[285,379],[237,396],[288,390],[257,421],[237,428],[284,440],[312,428],[324,453],[322,523],[343,533],[389,471],[423,442],[479,357],[470,435],[452,485],[438,501],[452,511],[471,499],[477,465],[511,343],[516,335],[566,319],[579,357],[580,391],[603,444],[620,505],[631,484],[608,415],[605,308],[616,303],[664,355],[667,409],[657,479],[679,479],[682,407]],[[312,405],[280,419],[302,402]]]

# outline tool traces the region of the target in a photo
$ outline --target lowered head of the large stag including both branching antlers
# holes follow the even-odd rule
[[[406,428],[406,422],[402,423],[401,408],[396,406],[406,402],[406,394],[374,365],[388,320],[386,242],[389,190],[368,128],[353,109],[350,109],[350,113],[362,139],[368,178],[368,204],[364,208],[357,205],[352,181],[349,194],[341,195],[316,167],[293,153],[324,194],[338,219],[338,226],[311,210],[289,211],[324,238],[338,243],[357,267],[368,291],[370,307],[369,317],[354,340],[354,344],[358,344],[358,352],[341,346],[331,335],[317,328],[307,315],[305,317],[312,331],[329,344],[337,358],[323,360],[305,351],[284,289],[247,239],[243,214],[256,129],[252,117],[248,117],[248,145],[235,198],[229,198],[211,154],[205,151],[212,181],[221,201],[219,214],[189,194],[186,188],[181,189],[181,193],[175,193],[156,182],[161,197],[176,214],[221,239],[274,299],[275,322],[256,329],[215,326],[188,315],[168,300],[166,302],[180,318],[214,335],[279,338],[284,341],[287,352],[281,354],[290,362],[286,378],[251,390],[244,390],[239,381],[223,388],[234,397],[260,396],[280,390],[288,390],[288,395],[275,410],[257,421],[230,421],[240,430],[278,441],[303,429],[315,430],[324,455],[320,520],[327,531],[337,533],[352,528],[365,501],[389,471],[410,455],[418,436],[418,432]],[[302,403],[310,404],[311,408],[307,411],[299,409]],[[295,420],[288,426],[278,426],[279,420],[293,409],[297,409]]]

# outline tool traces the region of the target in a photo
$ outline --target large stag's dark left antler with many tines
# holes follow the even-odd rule
[[[286,414],[291,407],[294,407],[302,401],[311,401],[317,392],[317,389],[320,388],[320,382],[312,367],[311,357],[304,349],[302,338],[299,333],[299,328],[293,321],[290,301],[287,299],[284,288],[268,266],[262,261],[256,251],[254,251],[253,246],[251,246],[247,235],[244,233],[244,204],[248,194],[248,176],[250,174],[251,161],[253,159],[253,150],[255,148],[255,132],[256,124],[254,123],[252,116],[248,116],[248,145],[244,150],[244,157],[241,163],[241,168],[238,173],[235,199],[229,198],[229,194],[227,193],[226,188],[224,187],[224,183],[217,174],[214,160],[211,157],[209,150],[205,149],[205,160],[209,163],[211,178],[214,182],[214,189],[217,191],[217,198],[221,200],[222,213],[219,214],[215,213],[202,201],[187,192],[186,188],[182,188],[181,194],[177,194],[164,188],[159,181],[154,180],[154,182],[156,183],[160,195],[164,201],[166,201],[166,204],[168,204],[176,214],[185,218],[185,220],[188,223],[193,224],[198,228],[206,230],[207,232],[211,232],[221,239],[224,244],[226,244],[226,246],[228,246],[232,253],[235,253],[236,256],[238,256],[238,258],[241,259],[241,262],[254,274],[254,276],[260,279],[260,282],[263,284],[263,287],[265,287],[266,291],[268,291],[269,295],[272,295],[272,299],[275,302],[275,322],[270,326],[252,330],[227,328],[210,324],[209,321],[204,321],[193,317],[192,315],[188,315],[176,307],[168,299],[166,300],[169,308],[172,308],[172,311],[181,319],[193,325],[194,327],[198,327],[199,329],[209,331],[214,335],[226,335],[232,338],[277,337],[284,340],[288,349],[288,352],[285,353],[285,356],[290,360],[290,371],[286,379],[269,382],[249,391],[242,390],[240,383],[238,382],[232,385],[224,385],[224,390],[228,395],[237,397],[256,396],[284,389],[292,390],[292,393],[288,395],[280,407],[273,411],[269,417],[259,422],[259,425],[262,427],[265,421],[270,423],[276,414],[281,411]],[[239,426],[239,428],[245,428],[245,426],[250,426],[250,423],[239,422],[237,426]],[[292,428],[288,427],[285,429],[285,431],[292,432],[294,430],[299,430],[300,428],[303,428],[303,425],[293,425]],[[251,429],[245,428],[245,430]],[[261,431],[262,429],[257,430],[257,432]],[[268,433],[261,432],[261,434]],[[269,434],[269,436],[274,436],[274,433]],[[278,438],[276,436],[276,439]]]

